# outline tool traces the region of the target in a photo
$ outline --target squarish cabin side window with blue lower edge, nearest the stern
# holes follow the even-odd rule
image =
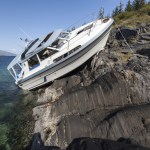
[[[29,70],[32,70],[40,65],[36,55],[28,59]]]

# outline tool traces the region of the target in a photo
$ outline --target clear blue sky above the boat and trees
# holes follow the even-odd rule
[[[122,0],[124,6],[127,1]],[[111,15],[119,3],[120,0],[1,0],[0,50],[18,54],[25,46],[20,38],[34,40],[55,29],[66,29],[101,7],[105,15]]]

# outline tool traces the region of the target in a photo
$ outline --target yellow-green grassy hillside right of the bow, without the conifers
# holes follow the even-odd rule
[[[136,11],[122,12],[114,16],[114,19],[117,24],[128,26],[128,27],[136,27],[140,23],[143,23],[143,22],[149,23],[150,22],[150,5],[146,5]]]

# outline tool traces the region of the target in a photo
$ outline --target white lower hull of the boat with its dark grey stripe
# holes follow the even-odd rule
[[[37,75],[34,75],[29,79],[22,80],[21,82],[19,82],[18,86],[24,90],[32,90],[43,86],[49,82],[52,82],[53,80],[75,70],[97,52],[104,49],[109,33],[110,27],[96,40],[94,40],[92,43],[89,43],[87,47],[81,49],[72,57],[69,57],[63,62],[57,64],[56,66],[53,66],[51,68],[45,68],[43,72],[39,74],[37,73]]]

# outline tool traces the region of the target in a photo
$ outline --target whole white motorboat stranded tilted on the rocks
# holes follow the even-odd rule
[[[73,31],[58,29],[31,41],[7,69],[25,90],[41,87],[78,68],[103,50],[113,19],[98,19]]]

